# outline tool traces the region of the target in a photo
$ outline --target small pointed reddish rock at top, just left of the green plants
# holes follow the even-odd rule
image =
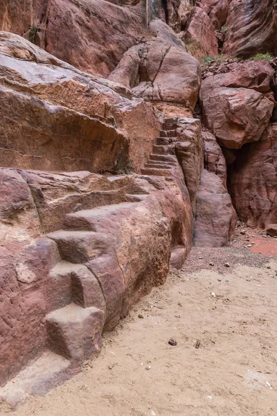
[[[196,58],[218,55],[215,27],[210,17],[200,7],[195,7],[181,39]]]

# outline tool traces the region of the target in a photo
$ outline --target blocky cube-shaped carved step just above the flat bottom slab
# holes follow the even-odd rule
[[[102,345],[104,313],[69,304],[46,315],[48,347],[73,363],[83,363]]]

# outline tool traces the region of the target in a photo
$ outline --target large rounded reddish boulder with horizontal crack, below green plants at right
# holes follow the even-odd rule
[[[274,108],[262,92],[269,92],[273,78],[270,65],[259,61],[233,64],[231,72],[203,81],[204,121],[222,146],[238,149],[260,139]]]

